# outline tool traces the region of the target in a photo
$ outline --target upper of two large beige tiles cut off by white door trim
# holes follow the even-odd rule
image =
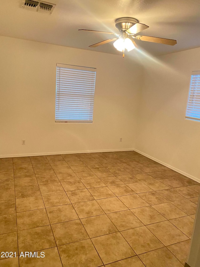
[[[176,219],[170,220],[170,222],[173,223],[173,225],[175,225],[179,230],[181,230],[189,238],[192,238],[194,219],[192,219],[190,216],[176,218]]]

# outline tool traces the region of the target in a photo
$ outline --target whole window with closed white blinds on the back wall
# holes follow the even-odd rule
[[[92,122],[96,69],[57,64],[56,122]]]

